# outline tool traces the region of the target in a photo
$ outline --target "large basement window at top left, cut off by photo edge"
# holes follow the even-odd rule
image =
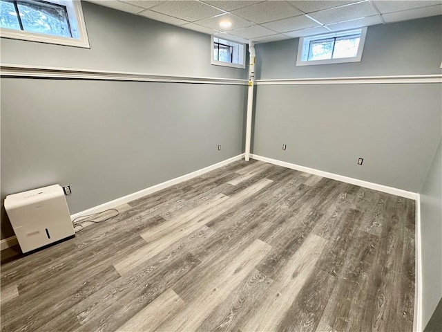
[[[89,48],[81,1],[0,0],[0,36]]]

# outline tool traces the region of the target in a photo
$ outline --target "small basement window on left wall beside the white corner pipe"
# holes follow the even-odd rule
[[[211,36],[211,64],[245,68],[246,48],[226,39]]]

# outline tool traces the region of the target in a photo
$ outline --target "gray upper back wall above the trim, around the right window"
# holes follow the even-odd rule
[[[298,38],[256,45],[256,78],[441,73],[442,17],[369,26],[361,62],[296,66]]]

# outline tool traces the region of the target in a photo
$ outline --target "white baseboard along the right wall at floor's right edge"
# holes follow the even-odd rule
[[[422,243],[421,243],[421,195],[416,197],[416,226],[414,228],[415,273],[414,273],[414,319],[413,331],[422,332]]]

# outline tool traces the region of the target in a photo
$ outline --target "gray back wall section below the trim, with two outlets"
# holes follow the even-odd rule
[[[418,192],[441,98],[440,84],[258,86],[253,154]]]

